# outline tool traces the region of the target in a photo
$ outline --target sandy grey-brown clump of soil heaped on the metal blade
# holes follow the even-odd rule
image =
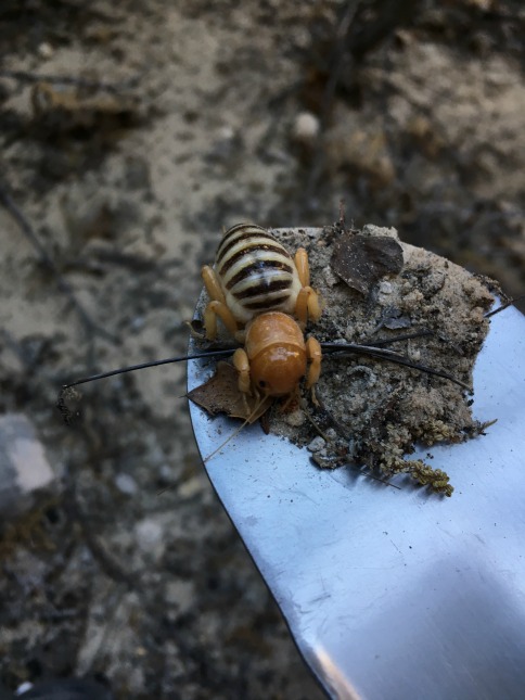
[[[494,282],[399,242],[395,229],[345,231],[340,222],[273,233],[290,251],[308,251],[311,284],[323,303],[321,319],[308,332],[321,343],[386,345],[413,364],[472,386],[474,361],[488,331],[485,313],[494,302]],[[342,259],[345,247],[348,265]],[[377,273],[380,258],[384,266]],[[388,268],[385,260],[394,258]],[[350,264],[356,260],[357,284]],[[308,445],[321,468],[355,463],[383,479],[407,473],[450,496],[448,474],[407,456],[417,442],[430,446],[479,435],[488,423],[473,418],[470,395],[450,379],[421,369],[366,354],[325,353],[317,403],[305,393],[300,406],[292,409],[290,402],[286,410],[274,404],[270,430]]]

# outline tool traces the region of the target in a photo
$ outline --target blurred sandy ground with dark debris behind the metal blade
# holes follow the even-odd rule
[[[1,682],[320,698],[193,444],[182,354],[222,229],[393,226],[525,288],[521,0],[3,0],[0,412],[55,483],[1,525]]]

